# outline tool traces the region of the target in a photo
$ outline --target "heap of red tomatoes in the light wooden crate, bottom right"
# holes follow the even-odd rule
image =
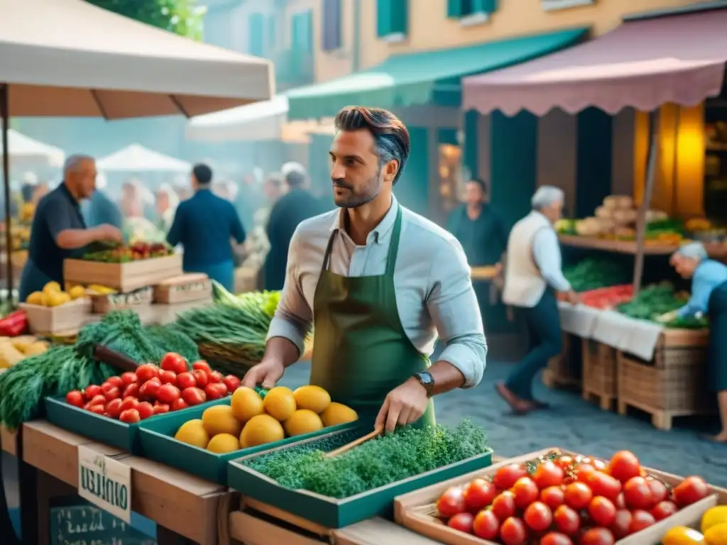
[[[553,451],[451,487],[436,509],[450,528],[502,545],[614,545],[709,494],[701,477],[670,488],[629,451],[608,461]]]

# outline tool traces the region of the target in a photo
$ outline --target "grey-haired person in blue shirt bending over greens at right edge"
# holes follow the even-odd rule
[[[707,341],[707,383],[717,392],[722,430],[711,440],[727,443],[727,265],[707,259],[702,243],[692,242],[678,249],[670,259],[682,278],[691,278],[691,297],[675,312],[659,320],[707,315],[710,336]]]

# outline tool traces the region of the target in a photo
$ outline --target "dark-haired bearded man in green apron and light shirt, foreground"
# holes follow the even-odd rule
[[[487,352],[465,253],[392,195],[409,132],[392,113],[341,110],[330,150],[334,210],[305,220],[289,247],[265,357],[243,384],[272,387],[313,326],[310,383],[393,431],[433,424],[431,397],[480,382]],[[430,365],[435,338],[446,344]]]

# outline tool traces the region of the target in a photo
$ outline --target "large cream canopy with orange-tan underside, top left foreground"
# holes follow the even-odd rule
[[[84,0],[0,0],[11,116],[198,116],[268,100],[271,63]]]

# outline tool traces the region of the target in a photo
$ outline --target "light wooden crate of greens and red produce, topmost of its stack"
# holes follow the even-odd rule
[[[102,263],[87,259],[65,259],[63,277],[68,283],[100,284],[119,291],[155,286],[182,274],[182,255],[153,257],[126,263]]]

